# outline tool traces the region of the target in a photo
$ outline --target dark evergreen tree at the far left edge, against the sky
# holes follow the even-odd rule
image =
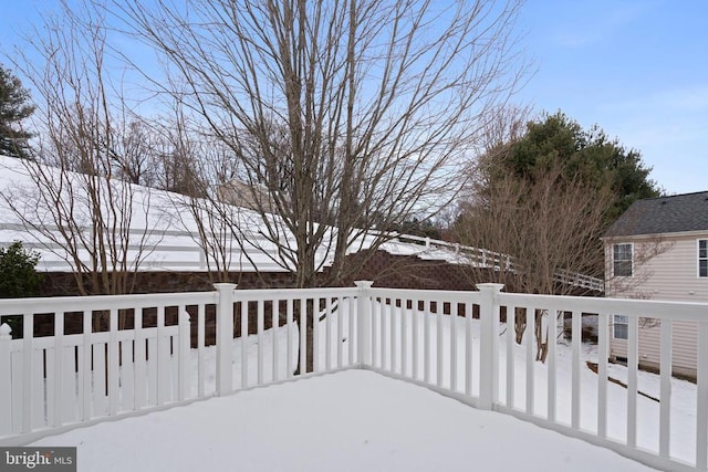
[[[0,65],[0,154],[29,157],[28,140],[32,134],[21,127],[21,122],[34,112],[29,101],[30,92],[10,70]]]

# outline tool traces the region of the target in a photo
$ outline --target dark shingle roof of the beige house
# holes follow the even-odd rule
[[[708,231],[708,191],[637,200],[605,238]]]

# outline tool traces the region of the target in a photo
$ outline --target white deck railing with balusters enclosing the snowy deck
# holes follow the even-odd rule
[[[0,443],[22,444],[87,421],[283,381],[312,364],[314,373],[373,369],[656,468],[707,470],[707,304],[511,294],[497,284],[482,284],[479,292],[372,289],[369,282],[351,289],[233,289],[220,284],[212,293],[0,301],[0,314],[21,315],[24,333],[11,339],[7,325],[0,329]],[[155,323],[144,323],[146,310],[155,313]],[[83,332],[64,334],[65,317],[75,312],[83,313]],[[44,313],[53,317],[54,332],[34,337],[34,317]],[[121,326],[126,313],[131,321]],[[169,313],[178,315],[170,321]],[[216,346],[205,343],[209,313],[217,323]],[[546,363],[535,361],[538,345],[529,334],[537,316],[525,313],[538,315],[549,339],[559,334],[549,318],[562,314],[570,319],[569,349],[549,343]],[[597,375],[584,367],[577,335],[587,314],[598,319]],[[299,315],[316,321],[312,336],[299,336]],[[629,318],[626,389],[608,382],[612,315]],[[92,326],[97,316],[107,316],[107,331]],[[520,346],[512,328],[519,316],[527,322]],[[658,402],[638,388],[638,333],[645,317],[662,325]],[[699,334],[697,395],[688,415],[693,423],[680,434],[676,407],[687,406],[677,405],[670,377],[677,321],[696,322]],[[190,324],[196,324],[195,347]],[[235,338],[235,327],[250,334]],[[647,415],[656,417],[654,439],[639,428]],[[689,453],[681,443],[686,437],[695,441]]]

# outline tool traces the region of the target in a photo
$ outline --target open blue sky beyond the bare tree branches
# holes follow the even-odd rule
[[[0,0],[0,54],[53,0]],[[668,193],[708,190],[708,1],[528,0],[517,96],[639,150]],[[4,62],[4,61],[3,61]]]

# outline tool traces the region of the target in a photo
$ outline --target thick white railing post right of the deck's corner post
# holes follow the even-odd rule
[[[499,292],[503,284],[477,284],[481,294],[479,306],[479,408],[491,410],[499,389],[499,353],[497,325],[499,323]]]

